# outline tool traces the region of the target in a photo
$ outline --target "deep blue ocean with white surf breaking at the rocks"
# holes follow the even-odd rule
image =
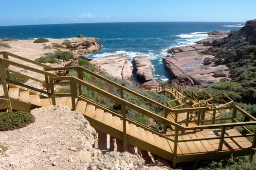
[[[205,32],[239,30],[241,27],[232,26],[235,24],[240,23],[124,22],[0,26],[0,38],[70,38],[78,34],[98,37],[98,43],[103,45],[103,49],[84,57],[95,59],[123,54],[132,61],[137,55],[146,55],[152,63],[154,80],[166,82],[170,77],[165,70],[163,58],[168,49],[194,44],[195,41],[208,37]]]

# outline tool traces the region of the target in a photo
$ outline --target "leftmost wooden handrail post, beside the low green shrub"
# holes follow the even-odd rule
[[[8,100],[8,102],[9,102],[8,110],[12,112],[13,108],[12,108],[12,103],[9,98],[8,86],[6,83],[5,66],[4,66],[4,63],[2,62],[2,60],[0,60],[0,76],[1,76],[0,78],[1,78],[1,83],[2,83],[2,87],[3,87],[4,98]]]

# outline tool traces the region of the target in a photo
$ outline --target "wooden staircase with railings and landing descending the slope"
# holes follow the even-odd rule
[[[181,162],[207,160],[231,155],[252,156],[255,154],[255,128],[253,131],[250,131],[249,128],[250,126],[256,126],[256,118],[238,106],[228,105],[230,102],[225,101],[226,99],[224,98],[221,99],[221,102],[224,101],[224,104],[221,103],[221,107],[219,108],[213,107],[210,101],[212,99],[207,98],[205,98],[205,103],[201,102],[200,99],[198,103],[192,103],[193,107],[188,107],[186,98],[182,96],[182,93],[173,90],[172,92],[174,95],[177,95],[177,101],[180,102],[182,107],[171,108],[148,99],[123,85],[116,84],[85,68],[50,68],[49,66],[8,52],[0,52],[0,54],[3,55],[3,58],[0,58],[0,64],[3,66],[0,68],[2,82],[0,87],[5,88],[8,85],[8,89],[3,90],[5,94],[0,91],[0,95],[2,95],[2,98],[0,98],[0,110],[13,109],[29,112],[32,109],[46,107],[48,105],[67,105],[71,109],[81,112],[95,129],[122,140],[124,151],[127,150],[127,144],[130,144],[171,161],[173,167],[175,167],[176,163]],[[43,69],[38,70],[9,61],[9,55],[37,64],[43,67]],[[44,84],[46,90],[9,80],[8,77],[10,76],[8,74],[12,70],[10,68],[4,68],[5,66],[9,67],[9,65],[43,74],[45,81],[38,80],[38,82]],[[63,69],[76,70],[78,77],[59,77],[45,71]],[[83,81],[82,75],[84,72],[113,85],[116,89],[120,89],[120,96],[115,96],[101,88],[91,85],[90,82]],[[4,77],[3,75],[7,76]],[[37,80],[36,78],[29,77],[29,75],[22,74],[22,76],[33,79],[34,81]],[[70,85],[70,92],[55,94],[55,85],[64,84]],[[115,103],[120,103],[121,114],[115,113],[110,108],[102,106],[101,103],[93,102],[92,99],[82,96],[83,91],[81,86],[85,86],[101,94],[103,97],[111,99]],[[152,113],[137,104],[124,100],[124,91],[163,109],[165,116],[159,116],[157,113]],[[226,96],[224,97],[226,98]],[[204,107],[200,107],[199,105]],[[134,119],[127,118],[127,109],[134,110],[138,114],[149,117],[155,122],[162,123],[165,127],[164,133],[159,133]],[[226,119],[220,119],[222,112],[224,113],[227,110],[231,113],[231,116]],[[243,114],[250,121],[239,122],[237,112]],[[212,118],[209,120],[205,119],[205,114],[210,114]],[[229,120],[230,123],[219,123],[222,120]],[[241,134],[234,127],[243,128],[246,133]],[[249,141],[248,137],[253,138],[252,142]]]

